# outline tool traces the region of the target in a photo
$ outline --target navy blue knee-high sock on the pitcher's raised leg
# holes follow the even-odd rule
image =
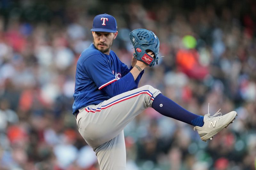
[[[164,116],[171,117],[193,126],[202,127],[204,125],[204,116],[195,115],[187,111],[161,93],[155,97],[151,106]]]

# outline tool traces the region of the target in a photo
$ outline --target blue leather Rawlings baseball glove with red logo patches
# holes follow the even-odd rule
[[[135,53],[133,56],[150,67],[157,64],[158,53],[159,53],[159,45],[160,42],[157,36],[149,30],[146,29],[135,29],[130,33],[130,39],[132,41],[132,45],[135,49]],[[148,51],[151,50],[155,54],[154,57],[148,55]]]

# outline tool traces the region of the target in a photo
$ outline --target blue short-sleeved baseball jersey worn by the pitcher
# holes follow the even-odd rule
[[[114,51],[110,50],[107,55],[91,44],[82,52],[76,64],[73,114],[82,107],[110,99],[101,89],[129,72],[130,69],[119,60]]]

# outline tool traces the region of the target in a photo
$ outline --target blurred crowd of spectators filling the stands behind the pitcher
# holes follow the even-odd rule
[[[72,115],[76,61],[92,20],[117,20],[112,50],[131,64],[129,32],[152,30],[158,65],[140,81],[198,115],[235,110],[207,143],[148,108],[124,129],[127,170],[250,170],[256,165],[256,3],[0,1],[0,169],[98,170]]]

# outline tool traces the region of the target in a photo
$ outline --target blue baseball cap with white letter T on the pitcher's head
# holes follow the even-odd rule
[[[116,33],[116,19],[112,15],[100,14],[94,17],[91,31]]]

